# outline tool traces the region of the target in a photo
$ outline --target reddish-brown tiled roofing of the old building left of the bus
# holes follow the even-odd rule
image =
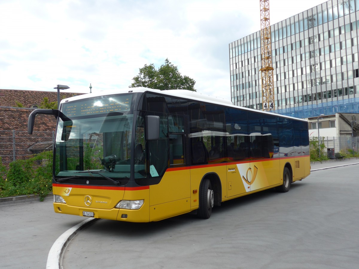
[[[81,93],[60,92],[60,98],[68,98]],[[33,135],[27,133],[29,114],[34,110],[32,105],[40,105],[43,98],[48,102],[57,101],[56,91],[26,91],[0,89],[0,156],[3,164],[15,159],[27,159],[52,147],[56,128],[53,115],[38,114],[35,118]],[[24,108],[16,107],[16,101]],[[15,135],[15,143],[13,136]]]

